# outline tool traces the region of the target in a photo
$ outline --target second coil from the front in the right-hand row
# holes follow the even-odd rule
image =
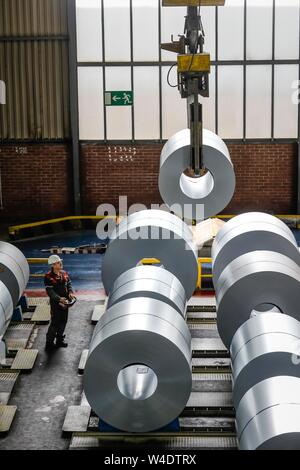
[[[293,355],[300,355],[300,323],[294,318],[265,313],[244,323],[231,344],[235,408],[245,393],[262,380],[277,375],[300,378]]]

